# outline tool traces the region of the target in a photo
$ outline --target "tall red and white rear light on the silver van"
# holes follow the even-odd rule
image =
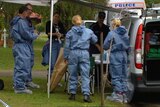
[[[140,24],[135,41],[135,66],[138,69],[142,69],[142,32],[143,24]]]

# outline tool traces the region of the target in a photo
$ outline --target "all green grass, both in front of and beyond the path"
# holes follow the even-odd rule
[[[35,65],[33,71],[46,71],[47,67],[41,65],[41,51],[47,38],[42,36],[34,42]],[[58,87],[48,98],[46,78],[37,77],[34,81],[40,84],[40,89],[33,89],[33,94],[15,94],[12,88],[12,76],[2,76],[1,72],[10,71],[13,73],[14,60],[12,48],[0,48],[0,79],[5,82],[4,90],[0,91],[0,99],[5,101],[11,107],[99,107],[101,105],[100,93],[91,96],[93,103],[84,103],[83,96],[79,93],[76,101],[69,101],[68,94],[64,92],[64,87]],[[64,86],[64,85],[63,85]],[[106,107],[127,107],[127,105],[105,101]],[[0,103],[0,107],[3,107]]]

